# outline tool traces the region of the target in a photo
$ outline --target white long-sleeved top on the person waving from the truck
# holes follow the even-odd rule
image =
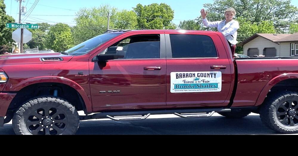
[[[239,29],[239,23],[235,20],[232,20],[228,23],[226,23],[226,20],[224,21],[216,21],[216,22],[209,22],[207,18],[203,19],[203,23],[207,27],[215,27],[217,30],[224,34],[226,39],[232,44],[236,45],[238,43],[237,41],[237,30]]]

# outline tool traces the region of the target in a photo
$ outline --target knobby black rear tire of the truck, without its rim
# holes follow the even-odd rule
[[[283,91],[283,92],[271,93],[270,95],[268,95],[263,105],[260,106],[260,118],[263,124],[266,125],[268,128],[271,128],[272,130],[275,130],[279,133],[287,133],[287,134],[298,133],[298,125],[294,125],[294,126],[285,125],[282,123],[283,122],[282,119],[285,119],[286,117],[279,118],[280,116],[277,115],[277,111],[280,111],[280,106],[284,105],[285,102],[292,101],[292,100],[294,100],[293,102],[294,105],[292,104],[289,106],[289,107],[292,107],[291,110],[298,107],[297,92]],[[283,108],[281,110],[283,111]],[[286,112],[287,111],[285,111],[285,113]],[[297,117],[297,114],[295,115],[295,117]],[[287,118],[287,120],[289,121],[288,123],[291,123],[290,118]],[[296,118],[295,118],[295,121],[297,123]]]

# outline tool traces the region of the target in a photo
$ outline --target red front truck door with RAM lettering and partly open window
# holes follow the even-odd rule
[[[122,38],[125,57],[109,60],[104,67],[92,62],[91,97],[94,108],[136,109],[166,105],[164,34]]]

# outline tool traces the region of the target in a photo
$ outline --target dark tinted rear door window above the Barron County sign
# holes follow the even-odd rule
[[[211,37],[206,35],[170,34],[173,58],[217,57]]]

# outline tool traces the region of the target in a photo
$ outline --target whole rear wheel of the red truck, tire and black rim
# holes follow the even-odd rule
[[[280,133],[298,132],[298,93],[280,92],[267,97],[260,107],[264,125]]]

